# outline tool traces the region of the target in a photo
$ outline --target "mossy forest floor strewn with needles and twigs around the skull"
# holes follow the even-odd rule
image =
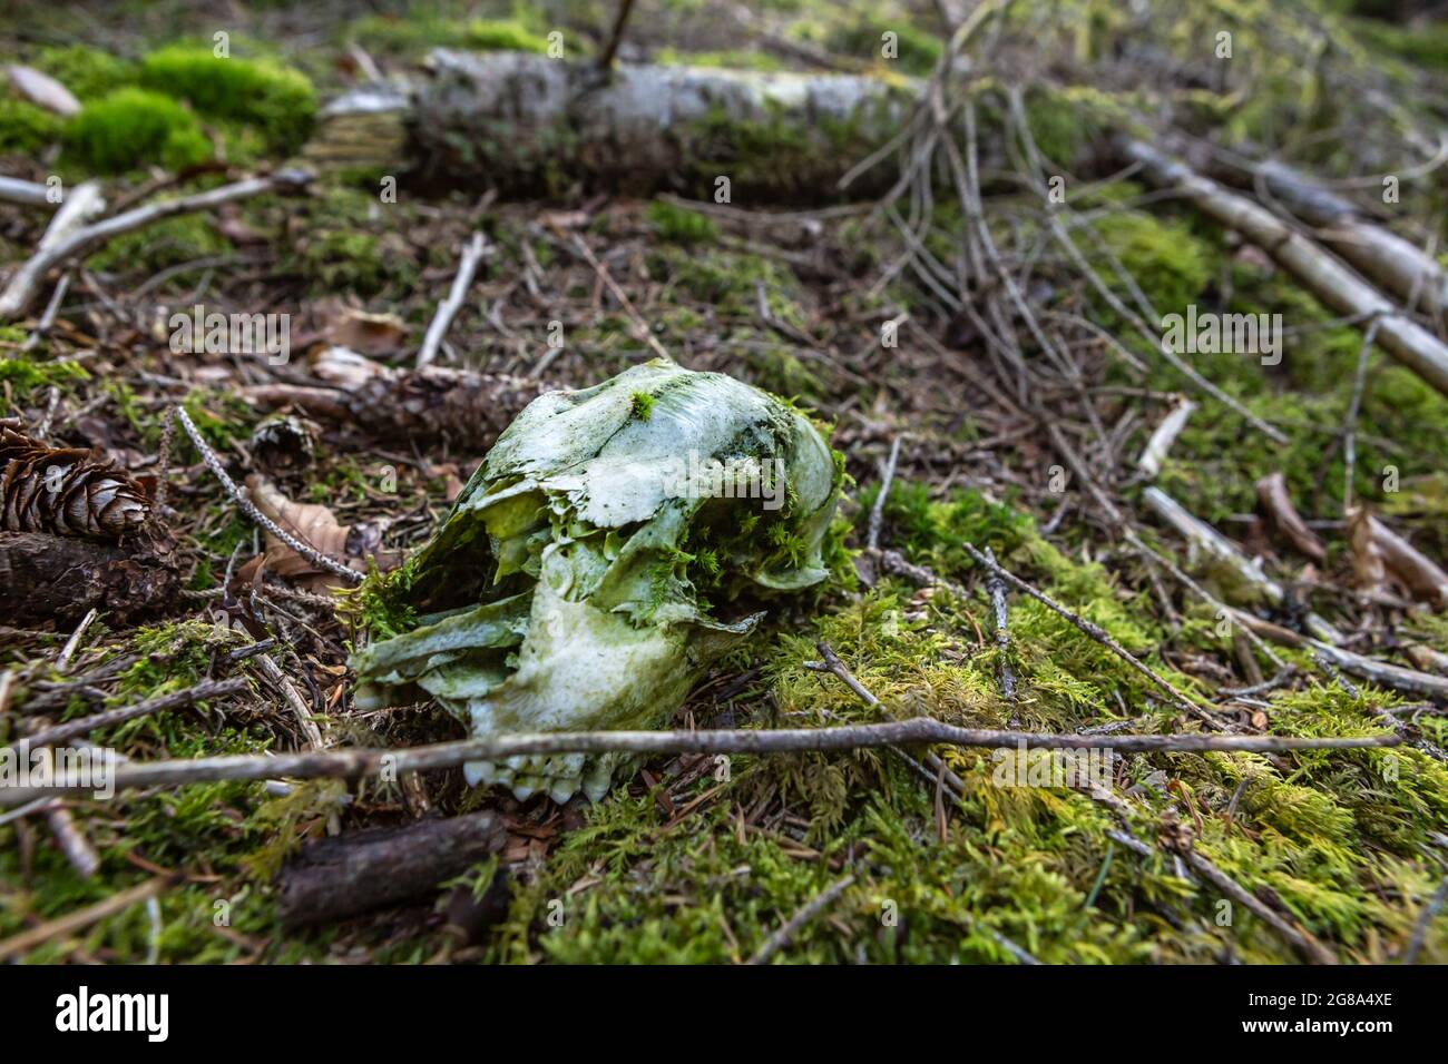
[[[217,25],[230,28],[242,61],[285,64],[324,100],[358,77],[353,45],[390,72],[437,43],[534,49],[555,26],[597,48],[610,22],[586,4],[491,17],[476,14],[478,4],[432,4],[426,14],[414,7],[361,19],[339,4],[256,4],[249,22],[229,13],[224,23],[206,4],[116,4],[84,25],[75,10],[19,7],[0,58],[49,72],[83,104],[146,84],[148,56],[178,41],[209,42]],[[626,59],[818,68],[785,49],[730,46],[738,26],[723,6],[660,0],[640,9]],[[901,74],[927,75],[943,46],[930,4],[760,12],[778,20],[776,36],[847,69],[877,65],[882,25],[901,28]],[[791,35],[798,26],[812,29]],[[1380,32],[1384,46],[1406,48]],[[195,191],[295,156],[290,109],[310,120],[310,103],[271,88],[265,109],[232,100],[203,110],[200,148],[185,136],[158,146],[198,152],[181,165],[204,156],[219,166],[172,182],[175,166],[159,158],[122,161],[107,197]],[[1080,148],[1086,130],[1069,111],[1053,126],[1051,114],[1032,111],[1043,151]],[[983,138],[1005,139],[989,119],[986,126]],[[110,159],[113,146],[101,139],[0,97],[0,172],[42,184],[58,174],[74,185]],[[1341,161],[1318,162],[1331,171]],[[1439,181],[1426,182],[1431,194],[1403,223],[1415,235],[1426,227],[1448,237]],[[1001,381],[975,324],[898,269],[898,229],[873,203],[778,208],[582,188],[518,201],[481,188],[423,195],[405,180],[391,201],[378,188],[378,174],[323,174],[300,195],[265,194],[151,224],[70,271],[68,295],[38,342],[54,284],[30,317],[0,326],[0,415],[56,446],[103,447],[138,476],[165,470],[164,518],[184,582],[158,615],[123,624],[103,609],[74,641],[77,618],[0,618],[0,738],[19,740],[39,718],[61,722],[242,676],[242,695],[148,714],[90,741],[132,761],[304,748],[307,725],[245,650],[255,638],[274,640],[264,653],[329,747],[465,735],[432,705],[352,706],[348,657],[368,617],[355,599],[330,595],[324,575],[306,566],[279,575],[275,550],[264,572],[255,559],[268,553],[265,536],[165,426],[182,407],[239,484],[269,476],[292,502],[330,514],[350,553],[395,563],[447,514],[482,450],[426,431],[384,439],[301,415],[288,423],[300,436],[278,437],[269,427],[277,411],[248,401],[246,389],[307,384],[308,358],[333,343],[410,366],[460,249],[482,230],[491,253],[447,332],[452,359],[445,353],[442,365],[586,387],[662,347],[685,366],[808,407],[833,424],[831,443],[846,456],[850,556],[837,559],[825,585],[778,604],[698,685],[673,727],[825,727],[918,714],[1045,732],[1197,727],[1153,677],[1027,595],[1008,596],[1009,637],[999,643],[992,582],[972,560],[973,544],[1099,625],[1234,734],[1399,731],[1409,743],[1122,754],[1111,789],[1127,812],[1079,789],[1002,786],[990,751],[946,747],[935,753],[960,779],[959,796],[885,750],[857,750],[737,756],[723,776],[712,757],[657,757],[598,803],[520,802],[466,786],[459,770],[391,783],[214,782],[65,799],[61,832],[81,835],[68,845],[56,834],[61,821],[43,809],[0,809],[0,958],[741,963],[830,892],[775,960],[1448,961],[1444,699],[1344,676],[1308,647],[1264,651],[1241,625],[1224,624],[1216,605],[1225,599],[1296,630],[1315,611],[1348,634],[1354,651],[1434,672],[1423,662],[1448,654],[1448,618],[1402,588],[1364,589],[1345,495],[1428,557],[1448,560],[1448,401],[1377,350],[1363,363],[1355,400],[1361,332],[1260,250],[1131,177],[1083,185],[1074,201],[1092,262],[1103,271],[1119,262],[1150,305],[1283,314],[1290,336],[1280,365],[1228,353],[1193,365],[1286,443],[1193,391],[1148,346],[1125,340],[1141,372],[1080,326],[1089,318],[1099,333],[1127,332],[1054,248],[1043,250],[1027,195],[1008,180],[986,200],[1002,250],[1031,263],[1022,275],[1034,304],[1077,321],[1067,349],[1077,382],[1051,385],[1037,368],[1028,405]],[[0,268],[33,252],[46,220],[46,211],[0,204]],[[941,259],[954,253],[950,233],[966,224],[959,207],[937,204],[931,239]],[[1116,276],[1114,291],[1131,298]],[[169,316],[195,304],[288,313],[291,362],[177,353]],[[559,327],[562,346],[550,343]],[[1147,476],[1137,459],[1184,394],[1197,407],[1160,473]],[[301,449],[275,444],[303,437]],[[934,586],[892,573],[867,550],[896,443],[879,547],[928,569]],[[1258,501],[1258,482],[1279,472],[1325,547],[1318,560],[1279,534]],[[1153,518],[1142,504],[1153,484],[1261,559],[1286,595],[1260,598]],[[242,615],[248,624],[232,624]],[[808,667],[820,643],[883,709]],[[1009,696],[1003,675],[1014,680]],[[307,840],[478,809],[498,811],[508,831],[494,858],[408,905],[282,926],[274,880]],[[78,867],[85,853],[98,860],[94,874]],[[1203,874],[1192,854],[1221,879]],[[153,903],[100,912],[78,928],[55,924],[156,880]],[[36,941],[7,957],[6,944],[26,935]]]

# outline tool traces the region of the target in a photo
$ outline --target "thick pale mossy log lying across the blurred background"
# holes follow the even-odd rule
[[[429,74],[407,94],[334,101],[308,158],[387,166],[405,124],[405,161],[436,184],[714,195],[728,178],[736,200],[818,201],[844,195],[840,178],[886,146],[918,100],[912,84],[872,77],[650,65],[605,75],[523,52],[440,49]],[[376,153],[379,136],[387,148]],[[886,161],[849,194],[877,194],[895,177]]]

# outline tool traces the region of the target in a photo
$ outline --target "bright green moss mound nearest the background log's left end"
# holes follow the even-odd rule
[[[256,126],[274,151],[300,145],[317,110],[306,74],[269,59],[219,58],[204,48],[152,52],[142,62],[140,81],[190,100],[204,114]]]

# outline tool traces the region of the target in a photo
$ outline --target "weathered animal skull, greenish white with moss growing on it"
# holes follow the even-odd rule
[[[394,575],[420,627],[355,656],[358,701],[421,688],[479,738],[657,727],[759,618],[717,611],[825,578],[841,479],[805,417],[720,373],[657,359],[544,394]],[[513,757],[466,776],[597,801],[626,760]]]

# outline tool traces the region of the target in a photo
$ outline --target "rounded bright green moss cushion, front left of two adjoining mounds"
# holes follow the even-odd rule
[[[184,169],[211,158],[195,116],[143,88],[120,88],[85,104],[65,130],[65,143],[78,162],[103,174],[158,162]]]

